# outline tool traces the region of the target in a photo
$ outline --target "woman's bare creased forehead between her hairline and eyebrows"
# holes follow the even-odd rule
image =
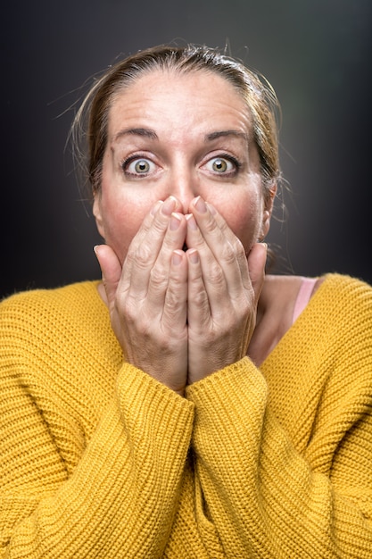
[[[211,71],[155,70],[140,75],[113,98],[111,141],[123,127],[161,129],[171,137],[236,129],[251,136],[251,113],[240,92]]]

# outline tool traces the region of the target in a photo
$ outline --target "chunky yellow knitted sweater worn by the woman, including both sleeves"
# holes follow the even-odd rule
[[[0,305],[0,556],[372,557],[372,288],[328,275],[260,370],[182,398],[95,282]]]

